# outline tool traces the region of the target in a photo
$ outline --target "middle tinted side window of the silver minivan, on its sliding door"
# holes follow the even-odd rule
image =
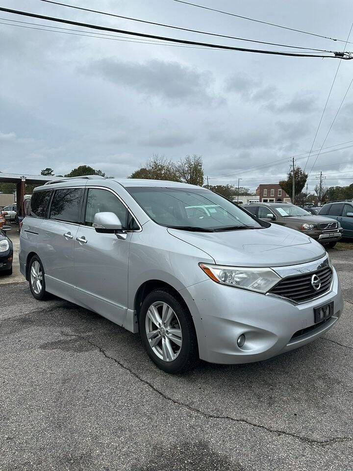
[[[50,206],[50,219],[79,222],[81,197],[81,188],[63,188],[55,190]]]

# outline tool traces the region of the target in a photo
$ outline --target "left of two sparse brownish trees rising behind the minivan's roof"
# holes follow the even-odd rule
[[[176,165],[165,156],[153,154],[144,167],[135,170],[128,178],[143,178],[148,180],[170,180],[180,182]]]

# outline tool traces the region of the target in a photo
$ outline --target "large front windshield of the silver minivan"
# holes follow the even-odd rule
[[[216,231],[263,227],[245,211],[207,189],[130,186],[126,190],[162,226]]]

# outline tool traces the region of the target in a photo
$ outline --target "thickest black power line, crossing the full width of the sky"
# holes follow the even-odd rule
[[[7,13],[13,13],[15,15],[22,15],[22,16],[28,16],[31,18],[39,18],[42,20],[48,20],[48,21],[53,21],[56,23],[64,23],[67,25],[74,25],[74,26],[82,26],[86,28],[91,28],[91,29],[98,29],[102,31],[112,31],[115,33],[122,33],[122,34],[128,34],[131,36],[138,36],[138,37],[143,37],[143,38],[151,38],[151,39],[157,39],[157,40],[162,40],[162,41],[170,41],[173,43],[178,43],[178,44],[189,44],[193,46],[205,46],[208,48],[213,48],[213,49],[222,49],[222,50],[227,50],[227,51],[242,51],[242,52],[254,52],[254,53],[260,53],[260,54],[272,54],[272,55],[285,55],[285,56],[291,56],[291,57],[329,57],[329,58],[339,58],[339,59],[352,59],[353,54],[350,52],[334,52],[334,55],[323,55],[323,54],[307,54],[307,53],[298,53],[298,52],[279,52],[279,51],[267,51],[267,50],[262,50],[262,49],[249,49],[249,48],[238,48],[234,46],[223,46],[220,44],[212,44],[212,43],[202,43],[199,41],[188,41],[185,39],[176,39],[176,38],[170,38],[170,37],[164,37],[164,36],[157,36],[154,34],[146,34],[146,33],[140,33],[136,31],[127,31],[124,29],[117,29],[117,28],[111,28],[107,26],[98,26],[98,25],[91,25],[88,23],[82,23],[82,22],[77,22],[77,21],[72,21],[72,20],[64,20],[62,18],[55,18],[55,17],[50,17],[46,15],[39,15],[36,13],[30,13],[30,12],[25,12],[21,10],[12,10],[10,8],[4,8],[0,7],[0,11],[4,11]]]

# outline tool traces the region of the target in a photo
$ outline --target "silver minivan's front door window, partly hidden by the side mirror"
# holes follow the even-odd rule
[[[127,228],[128,211],[119,198],[108,190],[89,188],[85,226],[93,226],[94,216],[97,212],[114,212],[123,224],[123,228]]]

